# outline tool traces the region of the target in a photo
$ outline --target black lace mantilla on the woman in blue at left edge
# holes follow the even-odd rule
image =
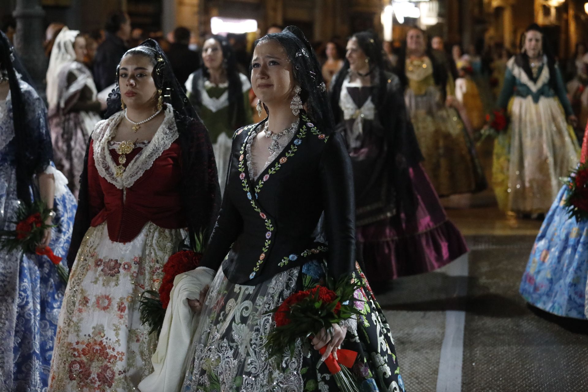
[[[24,92],[21,81],[34,88],[31,78],[14,53],[4,32],[0,31],[0,70],[8,73],[12,102],[12,120],[16,142],[16,193],[25,203],[33,196],[38,199],[38,187],[33,176],[46,169],[53,159],[51,135],[47,125],[47,109],[36,94]],[[27,96],[31,95],[32,96]]]

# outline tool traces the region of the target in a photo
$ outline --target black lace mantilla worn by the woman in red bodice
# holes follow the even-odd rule
[[[173,75],[168,58],[159,47],[159,44],[153,39],[147,39],[138,48],[155,55],[156,65],[153,68],[153,79],[157,88],[163,92],[163,102],[172,105],[173,116],[178,127],[178,142],[181,146],[182,155],[182,206],[188,221],[188,241],[193,238],[195,233],[201,231],[205,233],[205,239],[208,239],[220,207],[218,173],[216,172],[216,162],[208,130],[206,130],[202,120],[188,102],[182,85]],[[109,118],[121,110],[118,69],[116,75],[117,85],[108,96],[105,118]],[[70,268],[74,264],[76,253],[92,220],[88,203],[88,148],[86,148],[80,183],[74,234],[72,235],[72,243],[68,254],[68,266]]]

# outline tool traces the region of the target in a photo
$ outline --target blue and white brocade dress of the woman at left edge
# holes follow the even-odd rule
[[[20,84],[26,108],[31,109],[26,120],[38,124],[39,133],[45,132],[48,138],[44,105],[30,85]],[[9,95],[0,101],[0,230],[15,229],[16,153]],[[52,170],[51,164],[46,172]],[[76,206],[66,187],[62,186],[61,192],[56,190],[56,226],[49,247],[64,257],[64,266]],[[0,250],[0,390],[46,390],[64,289],[47,257]]]

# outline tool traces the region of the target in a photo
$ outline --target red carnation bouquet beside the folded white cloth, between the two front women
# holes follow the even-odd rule
[[[157,331],[159,334],[161,332],[165,310],[168,309],[169,294],[173,288],[173,280],[179,274],[198,267],[202,259],[203,247],[203,234],[200,233],[198,236],[194,236],[194,250],[181,250],[169,256],[168,262],[163,265],[163,279],[161,286],[159,286],[159,292],[145,290],[141,294],[139,313],[141,313],[141,322],[151,327],[149,333]]]

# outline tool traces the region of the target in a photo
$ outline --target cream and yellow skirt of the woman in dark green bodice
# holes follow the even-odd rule
[[[516,96],[510,125],[495,141],[493,187],[500,209],[546,213],[578,163],[579,146],[556,98]]]

